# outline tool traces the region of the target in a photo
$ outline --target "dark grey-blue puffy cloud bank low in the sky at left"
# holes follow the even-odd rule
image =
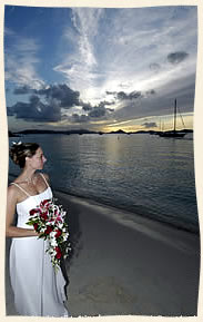
[[[93,106],[80,99],[80,92],[72,90],[65,84],[55,84],[42,89],[33,89],[29,86],[21,86],[13,90],[16,95],[28,95],[29,103],[18,101],[7,108],[8,116],[16,116],[28,121],[59,121],[69,119],[73,123],[87,123],[90,118],[100,118],[111,114],[114,109],[113,101],[100,101]],[[87,114],[79,115],[73,113],[70,116],[65,109],[81,108]]]

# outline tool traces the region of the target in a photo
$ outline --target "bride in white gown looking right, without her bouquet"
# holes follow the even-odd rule
[[[37,172],[47,159],[35,143],[13,143],[10,157],[22,169],[8,187],[6,218],[6,235],[12,238],[9,270],[16,309],[20,315],[69,316],[62,271],[55,273],[47,242],[26,224],[32,208],[52,198],[48,175]]]

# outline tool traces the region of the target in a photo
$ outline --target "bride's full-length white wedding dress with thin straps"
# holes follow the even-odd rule
[[[52,191],[49,185],[44,192],[34,196],[22,191],[28,197],[17,204],[17,226],[33,228],[26,224],[29,212],[41,201],[52,198]],[[64,276],[61,269],[55,273],[45,250],[47,241],[38,240],[38,236],[12,238],[9,269],[16,309],[20,315],[69,316],[63,305],[63,301],[67,301]]]

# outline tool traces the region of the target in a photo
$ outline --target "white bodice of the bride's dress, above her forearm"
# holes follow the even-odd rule
[[[21,203],[18,203],[17,204],[17,215],[18,215],[17,227],[33,230],[32,226],[29,226],[26,224],[30,217],[30,211],[39,206],[42,201],[51,199],[52,196],[53,196],[52,191],[51,191],[51,187],[49,186],[42,193],[33,195],[33,196],[29,196]]]

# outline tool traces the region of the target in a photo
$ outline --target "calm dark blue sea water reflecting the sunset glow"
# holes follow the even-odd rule
[[[52,187],[199,232],[193,136],[26,135],[48,162]],[[19,168],[9,162],[9,173]]]

